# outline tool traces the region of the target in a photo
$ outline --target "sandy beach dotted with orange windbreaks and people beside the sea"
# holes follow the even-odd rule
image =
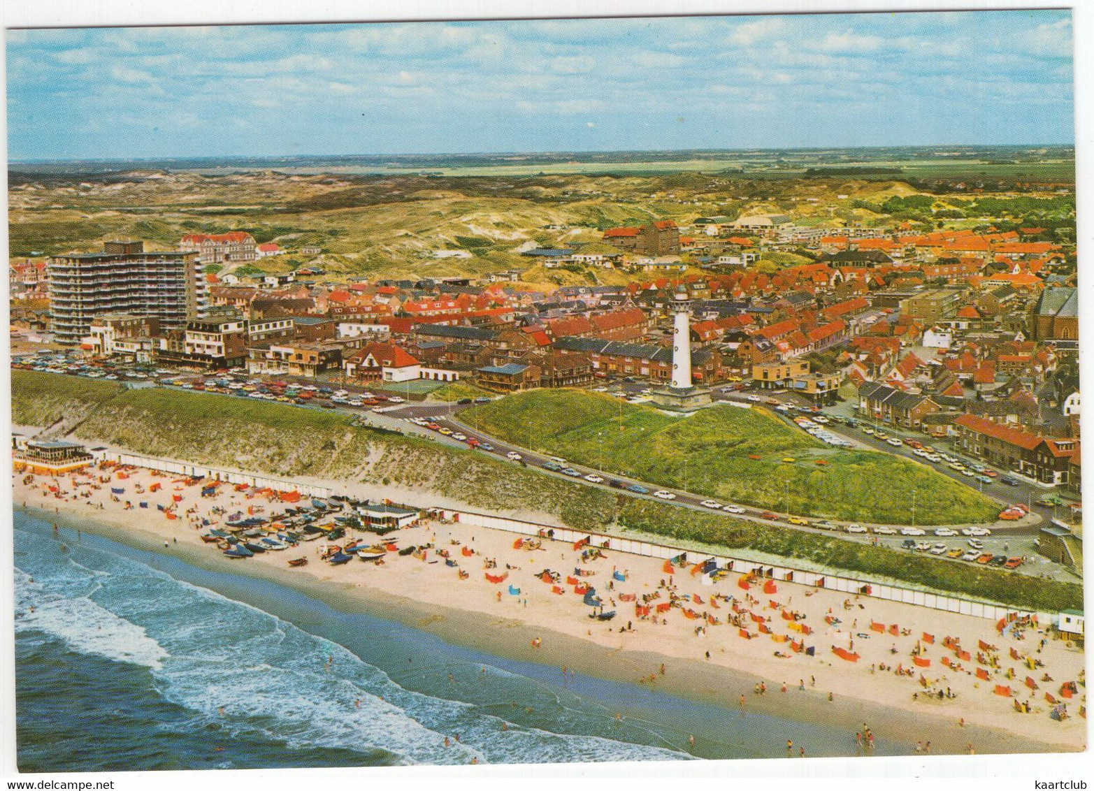
[[[14,503],[54,514],[57,522],[65,515],[94,522],[115,539],[274,579],[453,642],[555,665],[560,677],[565,666],[731,710],[838,724],[852,744],[866,723],[878,740],[924,747],[929,741],[932,753],[965,753],[969,744],[977,753],[1085,747],[1086,722],[1079,716],[1085,687],[1078,684],[1084,655],[1047,635],[1047,625],[1000,633],[981,618],[794,583],[777,582],[777,590],[765,592],[761,582],[753,582],[746,591],[737,573],[703,584],[701,574],[686,568],[670,575],[653,558],[605,552],[583,559],[582,549],[547,538],[535,549],[527,543],[516,548],[512,534],[438,522],[386,536],[399,548],[430,546],[417,556],[391,551],[383,565],[353,559],[333,567],[319,558],[324,539],[232,560],[200,535],[226,513],[249,508],[272,516],[286,503],[231,486],[200,497],[200,486],[177,476],[130,468],[119,478],[118,473],[89,468],[56,479],[15,474]],[[160,490],[150,492],[154,484]],[[112,493],[112,487],[125,491]],[[144,491],[138,493],[138,487]],[[167,519],[158,505],[176,517]],[[349,537],[375,540],[366,532]],[[446,565],[442,552],[456,567]],[[306,566],[288,567],[301,557]],[[544,570],[557,573],[558,581],[545,582]],[[488,574],[504,579],[494,583]],[[616,617],[590,619],[592,610],[574,583],[594,586]],[[650,614],[640,615],[640,606]],[[834,648],[857,654],[857,661]],[[1070,698],[1061,695],[1068,682],[1076,683]],[[764,694],[756,691],[760,684]],[[1014,697],[997,694],[997,686],[1009,687]],[[1067,719],[1050,718],[1046,694],[1067,703]],[[1016,711],[1015,701],[1028,701],[1028,713]]]

